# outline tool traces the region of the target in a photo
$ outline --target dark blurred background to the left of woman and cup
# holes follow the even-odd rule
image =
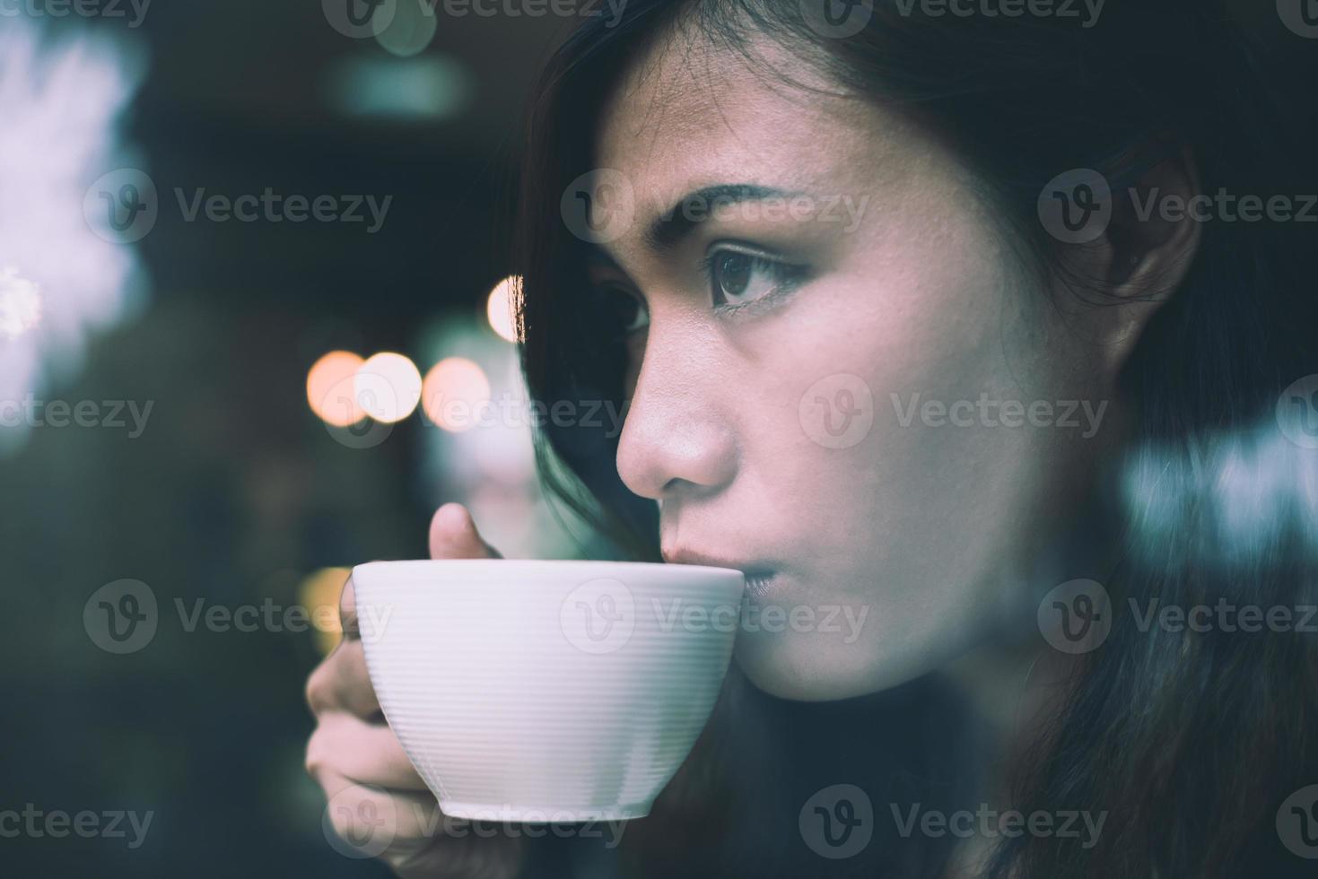
[[[14,423],[11,405],[0,427],[0,812],[153,816],[136,849],[127,820],[123,838],[5,834],[3,875],[386,875],[322,830],[302,691],[335,634],[290,631],[281,611],[333,604],[355,563],[424,556],[449,499],[494,510],[507,555],[567,550],[536,528],[523,432],[482,443],[490,480],[467,436],[419,411],[382,436],[328,428],[310,406],[308,370],[331,351],[399,352],[422,374],[464,356],[496,389],[511,374],[486,318],[507,274],[500,208],[531,83],[573,22],[409,18],[410,3],[380,38],[340,33],[319,3],[156,0],[136,26],[108,0],[91,17],[0,16],[0,271],[41,290],[26,320],[0,290],[0,327],[5,307],[17,322],[0,333],[0,398],[94,401],[104,422],[38,424],[29,407]],[[119,83],[115,125],[83,109],[108,105],[107,65],[141,70]],[[87,161],[69,154],[79,140]],[[123,167],[157,187],[133,242],[94,237],[79,210]],[[376,232],[365,206],[366,223],[188,221],[177,187],[391,202]],[[127,406],[112,426],[112,401],[152,405],[138,436]],[[150,589],[157,629],[117,655],[83,611],[124,579]],[[272,606],[277,622],[188,631],[175,600],[187,614]]]

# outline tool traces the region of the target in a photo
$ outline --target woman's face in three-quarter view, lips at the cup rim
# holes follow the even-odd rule
[[[985,638],[1110,434],[1087,318],[919,128],[697,37],[634,66],[596,159],[617,174],[592,278],[642,303],[618,472],[659,502],[668,561],[764,575],[750,677],[838,698]]]

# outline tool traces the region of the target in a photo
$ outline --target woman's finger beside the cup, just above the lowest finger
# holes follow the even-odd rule
[[[428,791],[390,727],[351,714],[331,714],[311,734],[307,774],[318,781],[337,775],[391,791]]]

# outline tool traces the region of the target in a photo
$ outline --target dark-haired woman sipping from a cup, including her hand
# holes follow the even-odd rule
[[[588,18],[532,115],[530,390],[630,405],[619,436],[548,427],[547,482],[807,621],[743,617],[602,868],[1307,875],[1318,308],[1284,196],[1315,191],[1313,120],[1217,3],[825,3]],[[456,505],[431,551],[493,553]],[[308,696],[330,796],[434,803],[358,642]],[[385,857],[554,849],[407,825]]]

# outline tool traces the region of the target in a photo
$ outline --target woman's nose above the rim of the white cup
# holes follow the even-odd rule
[[[633,493],[660,501],[731,482],[738,445],[722,409],[728,376],[716,360],[691,335],[656,336],[651,322],[618,438],[618,476]]]

